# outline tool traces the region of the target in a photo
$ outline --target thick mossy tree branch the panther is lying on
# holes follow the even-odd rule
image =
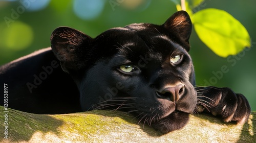
[[[4,111],[7,110],[1,106],[0,142],[256,142],[256,112],[251,113],[244,125],[223,123],[211,115],[190,115],[183,129],[161,134],[119,111],[59,115]],[[5,123],[8,123],[8,139],[3,134]]]

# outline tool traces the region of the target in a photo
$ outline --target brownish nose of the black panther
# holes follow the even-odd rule
[[[177,102],[184,91],[184,85],[178,84],[174,87],[166,87],[162,91],[157,92],[158,98],[167,99],[172,102]]]

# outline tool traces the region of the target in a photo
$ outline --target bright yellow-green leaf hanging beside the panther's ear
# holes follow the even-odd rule
[[[236,55],[251,46],[245,27],[223,10],[205,9],[191,17],[199,38],[217,55]]]

